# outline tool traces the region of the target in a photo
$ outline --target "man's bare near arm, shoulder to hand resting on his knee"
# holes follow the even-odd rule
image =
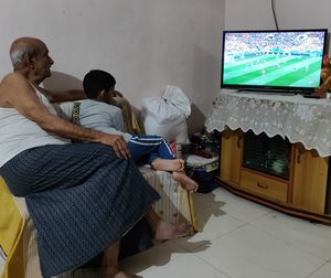
[[[32,85],[19,73],[8,75],[2,83],[8,107],[15,108],[42,129],[54,135],[83,141],[102,142],[111,146],[118,157],[129,158],[129,150],[122,136],[107,135],[65,121],[49,113],[40,101]]]

